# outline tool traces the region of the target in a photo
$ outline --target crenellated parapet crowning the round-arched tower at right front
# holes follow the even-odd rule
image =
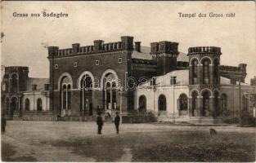
[[[196,46],[188,48],[188,55],[195,53],[222,53],[220,47],[215,46]]]

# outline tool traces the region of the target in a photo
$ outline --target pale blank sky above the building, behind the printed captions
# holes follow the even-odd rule
[[[47,13],[68,13],[45,18]],[[247,64],[246,82],[256,75],[255,3],[252,2],[2,2],[2,55],[4,66],[29,66],[29,77],[49,77],[47,46],[70,48],[93,40],[118,42],[133,36],[142,46],[150,42],[179,42],[179,51],[191,46],[220,46],[221,64]],[[14,17],[13,13],[40,17]],[[206,18],[181,18],[205,13]],[[235,17],[209,17],[209,13]]]

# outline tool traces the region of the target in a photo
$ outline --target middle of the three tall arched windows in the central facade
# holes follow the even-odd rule
[[[92,77],[84,75],[80,81],[81,89],[81,115],[92,115]]]

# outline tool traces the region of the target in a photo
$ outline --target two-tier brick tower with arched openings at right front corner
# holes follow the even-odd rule
[[[219,110],[220,47],[198,46],[188,49],[190,116],[217,117]]]

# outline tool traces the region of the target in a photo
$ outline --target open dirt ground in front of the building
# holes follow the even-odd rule
[[[210,135],[209,129],[217,130]],[[255,128],[7,121],[2,161],[255,161]]]

